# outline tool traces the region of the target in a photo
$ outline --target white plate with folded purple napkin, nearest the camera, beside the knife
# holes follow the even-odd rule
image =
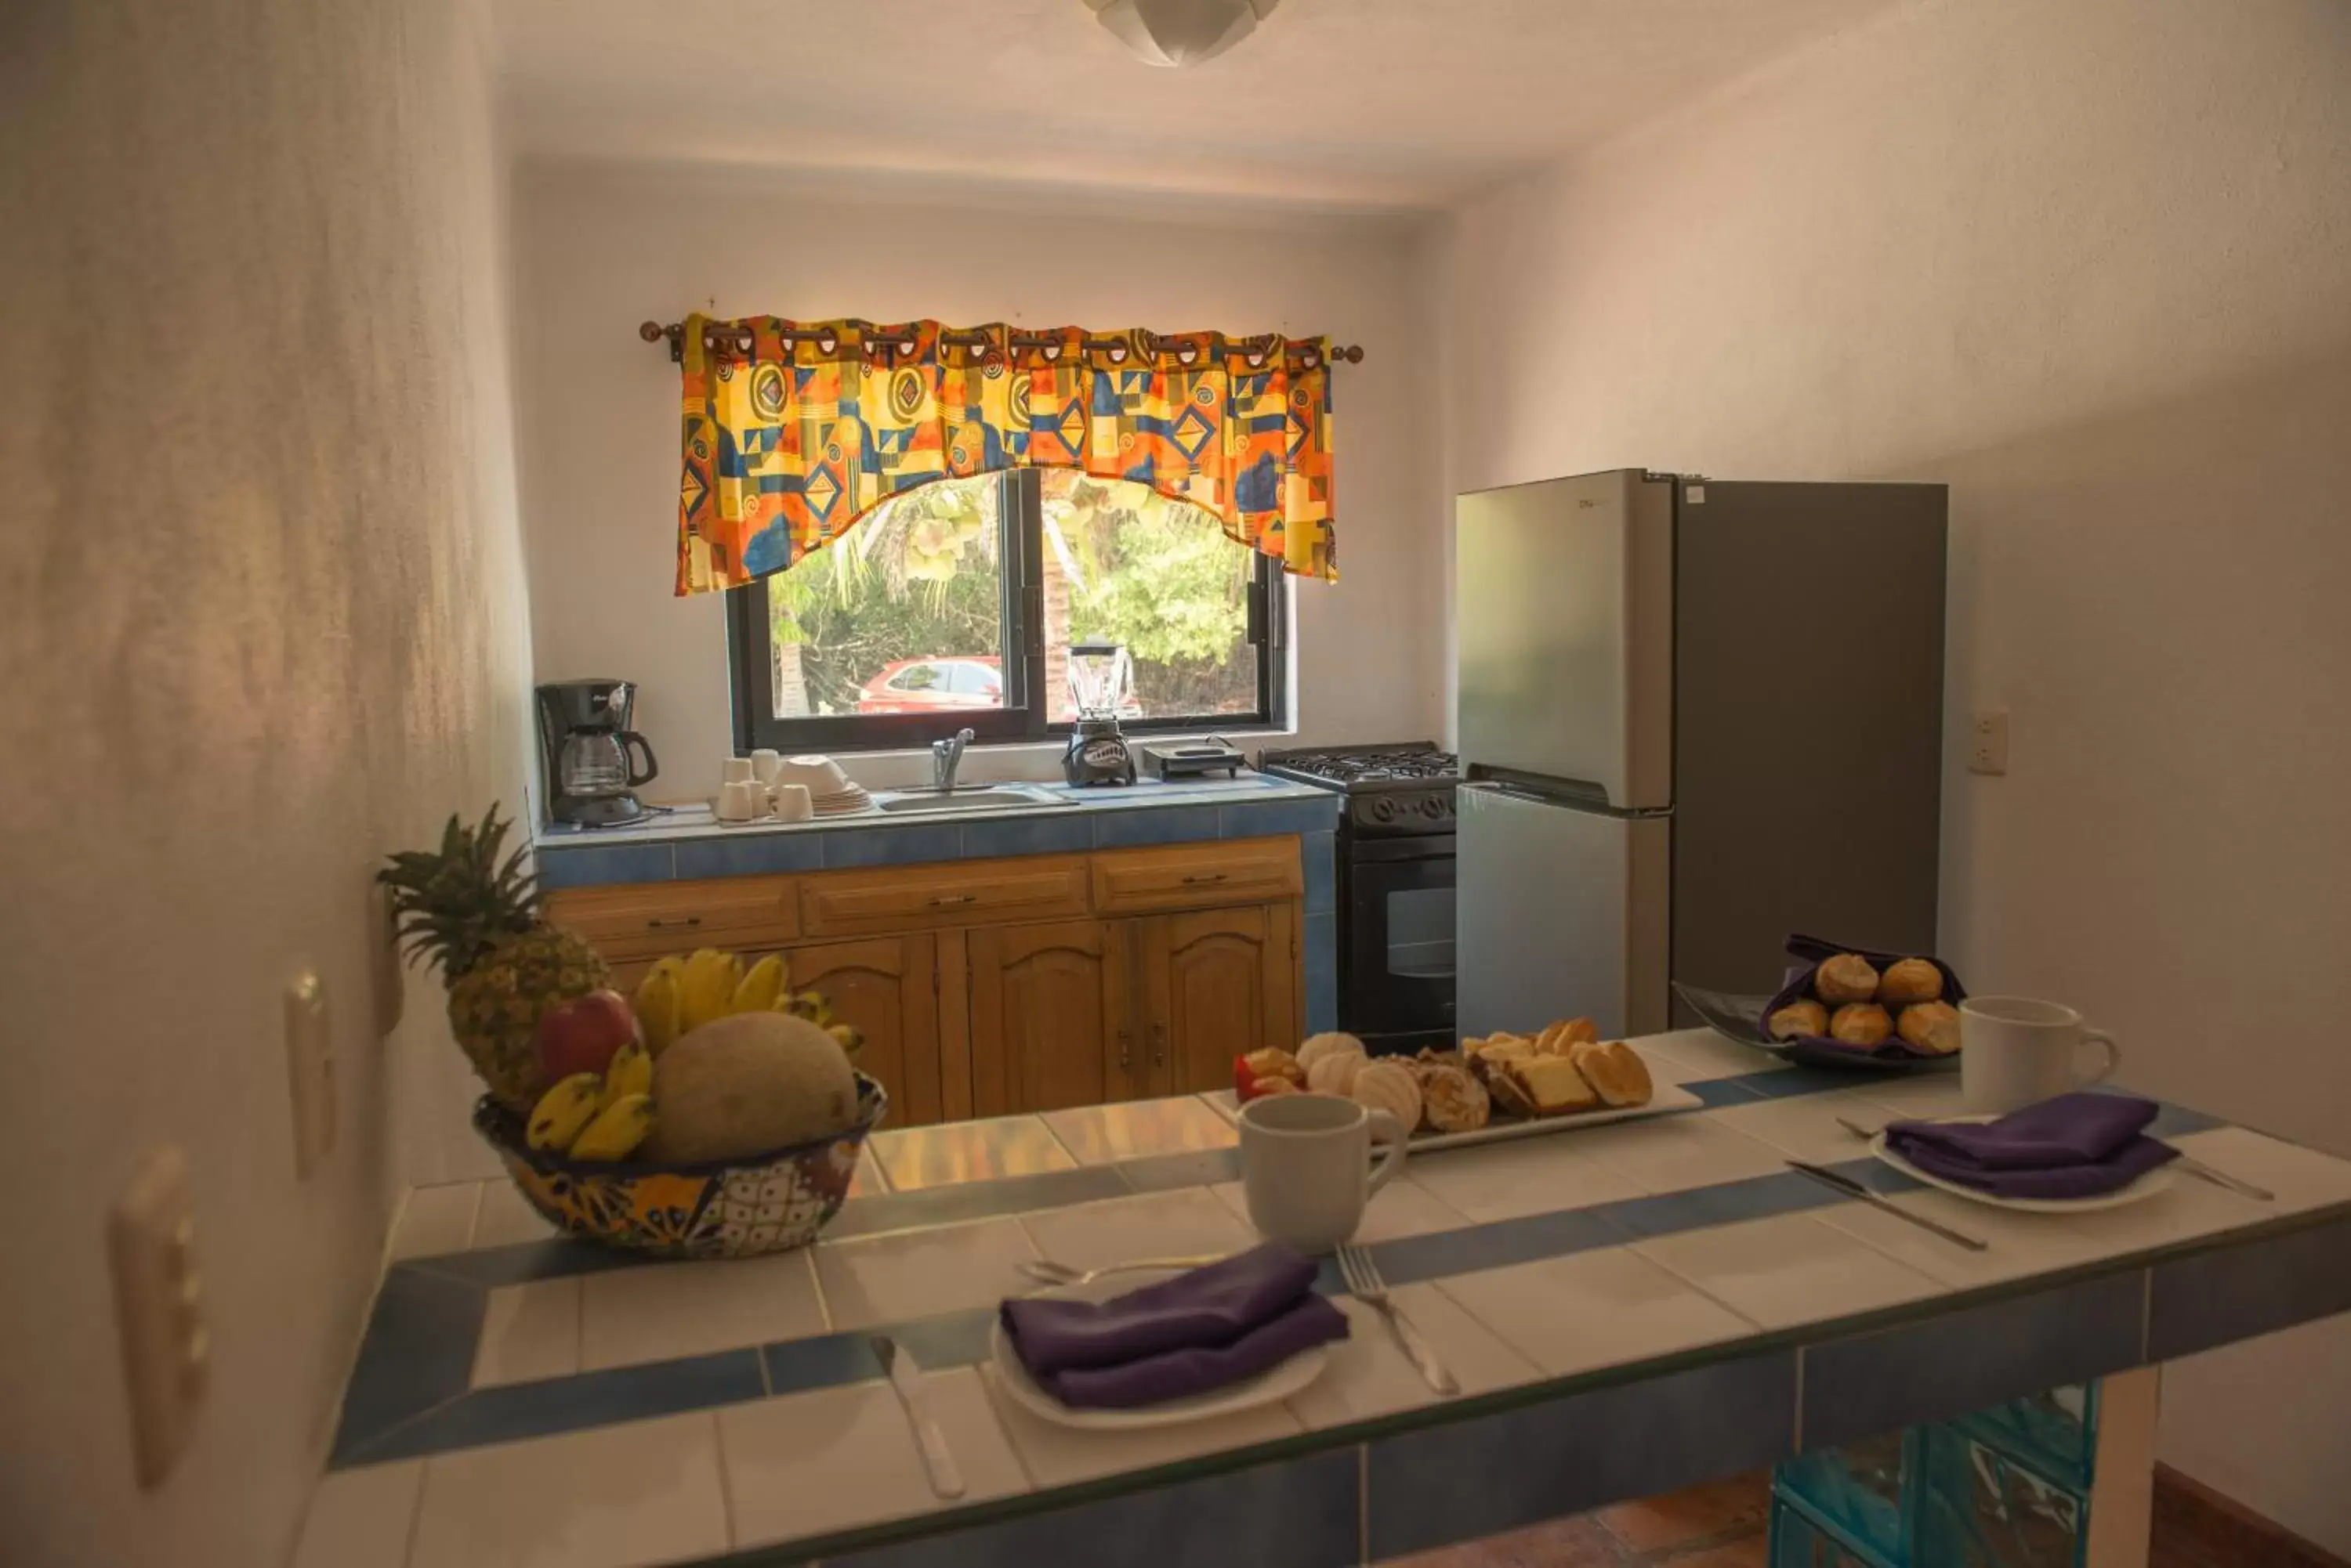
[[[1314,1293],[1314,1274],[1310,1258],[1267,1241],[1107,1302],[1009,1300],[1004,1335],[1065,1406],[1150,1406],[1345,1340],[1347,1314]]]

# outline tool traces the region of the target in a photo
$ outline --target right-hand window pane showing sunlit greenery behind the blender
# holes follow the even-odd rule
[[[1258,712],[1248,583],[1258,557],[1215,517],[1128,480],[1049,468],[1044,480],[1044,698],[1070,717],[1070,644],[1121,642],[1126,717]]]

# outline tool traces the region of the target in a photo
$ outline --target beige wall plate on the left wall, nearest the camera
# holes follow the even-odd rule
[[[212,1380],[205,1274],[195,1265],[195,1201],[188,1157],[153,1150],[106,1220],[115,1269],[122,1382],[132,1396],[132,1460],[139,1486],[172,1474],[195,1436]]]

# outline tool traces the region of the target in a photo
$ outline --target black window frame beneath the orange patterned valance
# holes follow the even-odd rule
[[[1044,484],[1034,468],[1013,468],[997,477],[997,559],[1004,564],[1004,646],[997,654],[1004,675],[1002,708],[943,708],[940,712],[835,712],[804,719],[778,719],[776,656],[769,644],[766,578],[729,588],[726,599],[726,670],[734,691],[734,738],[738,752],[884,752],[915,750],[945,741],[962,729],[978,745],[1044,743],[1067,736],[1074,726],[1046,722],[1044,696]],[[1253,555],[1248,578],[1248,644],[1258,649],[1258,708],[1246,715],[1190,715],[1164,719],[1126,719],[1126,733],[1180,731],[1279,731],[1288,726],[1288,609],[1291,595],[1281,562]],[[943,654],[945,658],[976,658]]]

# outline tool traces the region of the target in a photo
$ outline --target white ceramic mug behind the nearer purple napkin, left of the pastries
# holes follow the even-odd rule
[[[1371,1145],[1387,1154],[1371,1164]],[[1371,1194],[1404,1168],[1404,1128],[1338,1095],[1262,1095],[1241,1107],[1241,1192],[1267,1241],[1328,1253],[1364,1222]]]

